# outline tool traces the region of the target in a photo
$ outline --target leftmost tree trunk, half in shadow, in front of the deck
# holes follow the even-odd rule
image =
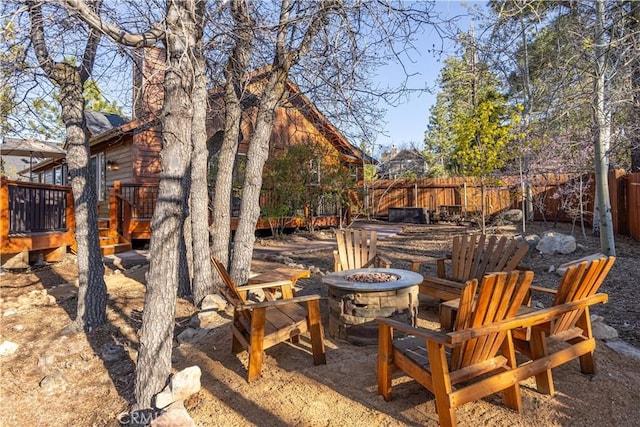
[[[84,129],[84,96],[82,82],[72,67],[68,80],[60,87],[62,120],[67,131],[67,165],[71,175],[75,237],[78,245],[78,310],[74,329],[90,331],[107,321],[107,287],[104,282],[104,264],[98,241],[98,203],[96,199],[95,170],[90,165],[89,138]]]

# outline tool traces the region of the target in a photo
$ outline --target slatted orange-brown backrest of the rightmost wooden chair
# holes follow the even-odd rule
[[[613,267],[615,257],[599,258],[593,261],[584,261],[567,268],[558,291],[553,301],[553,305],[560,305],[571,301],[578,301],[590,297],[598,292],[600,285]],[[551,325],[550,335],[576,326],[578,319],[584,312],[583,309],[564,313]]]

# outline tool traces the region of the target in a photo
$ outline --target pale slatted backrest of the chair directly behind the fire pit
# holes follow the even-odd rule
[[[376,256],[378,233],[361,229],[336,231],[338,255],[343,270],[363,268]]]

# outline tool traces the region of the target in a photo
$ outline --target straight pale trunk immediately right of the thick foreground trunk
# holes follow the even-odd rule
[[[191,231],[193,240],[193,303],[215,292],[209,248],[209,193],[207,187],[207,81],[204,58],[197,58],[191,125]]]

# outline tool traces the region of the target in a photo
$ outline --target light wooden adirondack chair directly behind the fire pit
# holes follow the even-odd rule
[[[333,270],[343,271],[354,268],[391,268],[391,261],[378,254],[378,233],[356,228],[336,231],[338,250],[333,251]]]

